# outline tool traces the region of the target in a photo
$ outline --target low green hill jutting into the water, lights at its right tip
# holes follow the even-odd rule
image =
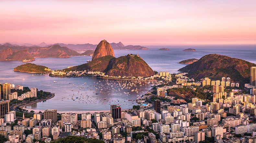
[[[51,69],[47,68],[46,66],[36,65],[33,63],[26,63],[14,68],[13,71],[17,72],[29,72],[29,73],[50,73],[52,72]]]

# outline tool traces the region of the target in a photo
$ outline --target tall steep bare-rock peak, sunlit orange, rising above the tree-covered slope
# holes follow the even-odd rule
[[[93,56],[92,56],[92,61],[100,58],[100,57],[104,57],[104,56],[115,56],[114,55],[114,50],[112,49],[110,43],[108,43],[106,40],[102,40],[100,41],[100,43],[97,45]]]

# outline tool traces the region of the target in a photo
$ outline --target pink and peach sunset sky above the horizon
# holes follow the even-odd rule
[[[0,0],[0,43],[256,44],[255,0]]]

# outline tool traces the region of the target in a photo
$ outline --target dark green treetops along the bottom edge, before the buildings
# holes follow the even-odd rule
[[[99,139],[92,139],[92,138],[84,138],[84,137],[77,137],[77,136],[69,136],[66,138],[60,138],[54,141],[51,141],[51,143],[104,143],[104,141],[101,141]]]

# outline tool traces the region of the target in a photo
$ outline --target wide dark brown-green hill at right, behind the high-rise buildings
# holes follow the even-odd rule
[[[222,77],[230,77],[231,81],[243,84],[250,81],[252,66],[256,64],[228,56],[209,54],[178,71],[188,72],[189,77],[198,79],[209,77],[212,80],[220,80]]]

